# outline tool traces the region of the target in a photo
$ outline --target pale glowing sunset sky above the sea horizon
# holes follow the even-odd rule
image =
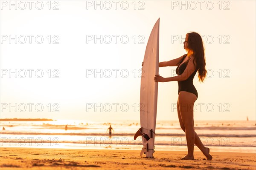
[[[195,121],[256,119],[254,0],[19,2],[1,1],[0,118],[139,121],[141,63],[160,18],[159,61],[186,54],[186,33],[202,35],[208,74],[194,78]],[[157,120],[178,120],[177,88],[159,83]]]

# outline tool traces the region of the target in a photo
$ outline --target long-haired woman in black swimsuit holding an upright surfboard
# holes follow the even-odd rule
[[[198,71],[198,79],[203,82],[206,76],[204,45],[201,36],[196,32],[186,34],[183,42],[187,54],[171,61],[159,63],[159,67],[177,66],[175,77],[163,78],[155,75],[154,81],[178,81],[177,111],[181,129],[186,133],[188,154],[182,159],[194,159],[194,144],[204,153],[208,160],[212,160],[208,147],[204,147],[194,130],[193,106],[198,98],[198,92],[193,85],[193,78]]]

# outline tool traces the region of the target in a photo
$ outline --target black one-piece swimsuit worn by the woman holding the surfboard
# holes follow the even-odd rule
[[[180,63],[183,62],[185,57],[186,57],[186,55],[183,55],[182,61]],[[188,62],[184,62],[182,64],[179,64],[179,66],[177,66],[177,68],[176,68],[176,74],[177,75],[181,75],[184,72],[184,70],[186,69],[186,66],[187,66],[186,63],[188,63]],[[197,72],[197,70],[195,70],[189,76],[189,78],[187,78],[186,80],[178,81],[178,86],[179,86],[178,94],[180,93],[180,91],[191,92],[191,93],[196,95],[196,99],[198,98],[198,92],[195,89],[195,86],[193,84],[193,79],[195,77],[196,72]]]

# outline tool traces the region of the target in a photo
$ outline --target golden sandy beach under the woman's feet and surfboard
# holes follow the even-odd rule
[[[253,153],[217,153],[205,160],[195,152],[195,160],[181,160],[186,152],[156,151],[154,158],[140,157],[139,150],[76,150],[0,148],[1,170],[168,170],[223,169],[255,170]]]

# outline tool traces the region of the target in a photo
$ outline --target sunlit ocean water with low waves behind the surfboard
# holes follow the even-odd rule
[[[255,123],[196,121],[195,131],[211,151],[256,153]],[[114,130],[111,136],[107,133],[110,124]],[[0,146],[141,150],[142,138],[133,139],[139,128],[139,121],[0,121]],[[187,149],[186,136],[178,121],[157,121],[155,133],[156,151]],[[197,150],[195,146],[195,151]]]

